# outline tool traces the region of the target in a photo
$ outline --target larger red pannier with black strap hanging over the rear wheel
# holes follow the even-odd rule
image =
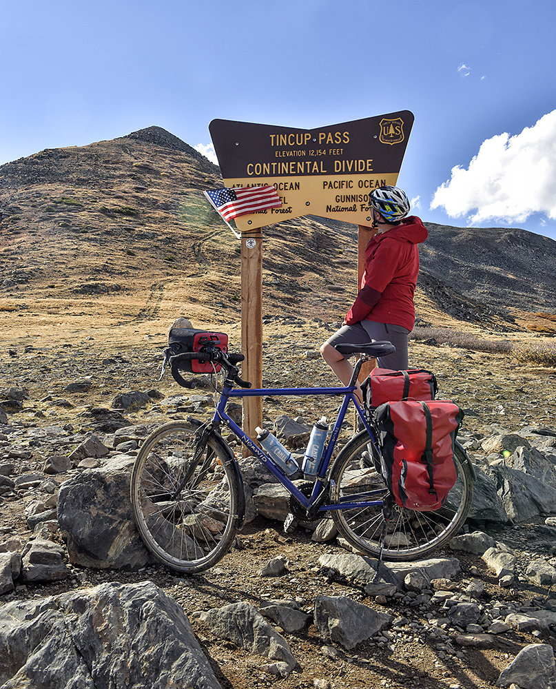
[[[463,411],[449,400],[390,402],[375,412],[382,475],[396,504],[440,508],[457,478],[453,448]]]

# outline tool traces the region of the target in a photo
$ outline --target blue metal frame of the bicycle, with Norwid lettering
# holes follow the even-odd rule
[[[358,368],[358,367],[357,367]],[[356,371],[357,371],[356,368]],[[378,445],[378,441],[375,438],[375,434],[373,433],[373,429],[371,426],[369,426],[369,423],[367,422],[367,419],[364,416],[364,413],[362,411],[362,408],[360,406],[360,403],[358,399],[356,398],[356,395],[354,395],[355,387],[354,386],[348,386],[348,387],[310,387],[310,388],[256,388],[256,389],[237,389],[237,388],[231,388],[229,386],[225,386],[222,394],[220,396],[220,401],[218,402],[218,406],[216,407],[216,411],[214,412],[214,418],[213,422],[216,424],[219,424],[220,422],[225,422],[227,426],[229,426],[229,429],[233,431],[233,433],[243,442],[249,450],[257,457],[262,464],[264,464],[267,469],[271,472],[272,475],[274,475],[278,481],[282,484],[282,486],[291,493],[291,495],[294,495],[296,500],[307,510],[310,511],[311,509],[315,509],[316,506],[318,506],[318,511],[324,512],[324,511],[330,511],[330,510],[338,510],[338,509],[347,509],[351,507],[359,507],[359,508],[364,508],[364,507],[371,507],[371,506],[382,506],[382,500],[374,500],[374,501],[369,501],[369,502],[349,502],[349,500],[345,499],[341,500],[337,504],[319,504],[321,502],[324,502],[327,497],[327,486],[328,482],[326,480],[326,475],[329,469],[329,465],[331,462],[331,457],[332,453],[334,451],[334,448],[336,446],[336,441],[338,440],[338,435],[340,434],[340,429],[342,428],[342,424],[344,422],[344,418],[347,412],[347,408],[349,407],[349,402],[353,402],[353,404],[356,407],[356,411],[359,415],[359,418],[362,420],[365,429],[367,429],[371,442],[375,446]],[[267,455],[264,451],[262,451],[258,445],[255,444],[251,438],[249,438],[249,435],[243,431],[243,429],[238,426],[232,420],[229,415],[227,415],[225,409],[227,402],[229,398],[243,398],[243,397],[262,397],[262,396],[278,396],[278,395],[344,395],[344,400],[342,402],[342,406],[340,407],[340,411],[338,413],[338,417],[336,418],[336,423],[334,424],[334,427],[332,429],[332,433],[330,436],[330,440],[327,443],[327,446],[325,447],[325,450],[323,451],[323,456],[322,460],[320,462],[319,466],[319,471],[318,475],[316,477],[315,485],[313,486],[313,491],[311,492],[311,495],[309,498],[307,498],[303,493],[297,488],[297,486],[294,485],[291,480],[289,480],[289,477],[285,475],[285,473],[274,463],[273,460],[271,460],[271,457]],[[370,491],[367,493],[363,493],[362,495],[368,495],[371,497],[373,493],[382,493],[383,491]]]

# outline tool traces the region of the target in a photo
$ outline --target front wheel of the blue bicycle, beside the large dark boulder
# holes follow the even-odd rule
[[[190,466],[198,426],[174,421],[156,429],[134,462],[130,495],[143,543],[158,562],[180,573],[212,567],[238,529],[243,484],[229,446],[209,435],[207,446],[178,495]]]

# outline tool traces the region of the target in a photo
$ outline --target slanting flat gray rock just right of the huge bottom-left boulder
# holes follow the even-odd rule
[[[227,639],[249,653],[277,661],[267,670],[288,675],[297,661],[287,641],[248,603],[233,603],[213,608],[200,615],[200,619],[220,639]]]

